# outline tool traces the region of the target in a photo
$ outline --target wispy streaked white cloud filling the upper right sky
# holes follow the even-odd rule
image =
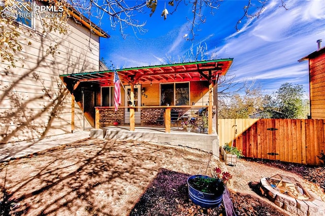
[[[308,90],[308,63],[298,60],[315,51],[316,40],[325,36],[325,10],[318,2],[289,1],[288,10],[272,6],[253,25],[249,20],[236,37],[233,34],[226,38],[217,51],[218,56],[234,57],[232,70],[236,71],[239,82],[256,80],[268,91],[284,82],[293,82],[303,84]],[[315,5],[319,8],[315,9]],[[306,15],[302,16],[304,11],[315,16],[309,14],[306,21]]]

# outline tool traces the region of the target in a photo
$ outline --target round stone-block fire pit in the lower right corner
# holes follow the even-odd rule
[[[325,203],[293,177],[274,175],[261,179],[261,192],[277,206],[300,216],[325,215]]]

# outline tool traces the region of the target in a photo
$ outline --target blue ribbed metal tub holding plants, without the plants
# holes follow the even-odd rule
[[[188,181],[189,179],[196,178],[196,177],[211,178],[210,176],[207,175],[192,175],[187,178],[188,196],[192,200],[192,202],[197,205],[200,205],[203,208],[219,207],[222,202],[222,194],[221,195],[209,194],[194,189],[189,184]]]

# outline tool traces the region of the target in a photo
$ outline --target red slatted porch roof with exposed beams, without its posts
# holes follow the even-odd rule
[[[183,81],[216,80],[218,76],[225,75],[229,70],[233,58],[209,61],[197,61],[177,64],[164,64],[154,66],[132,67],[117,69],[123,85],[137,83],[167,83]],[[79,82],[98,83],[101,86],[113,84],[114,70],[67,74],[67,77]]]

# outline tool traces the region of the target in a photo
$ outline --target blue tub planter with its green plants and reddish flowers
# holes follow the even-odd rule
[[[188,196],[193,203],[204,208],[218,207],[222,201],[225,185],[232,175],[214,168],[214,177],[207,175],[192,175],[187,178]]]

